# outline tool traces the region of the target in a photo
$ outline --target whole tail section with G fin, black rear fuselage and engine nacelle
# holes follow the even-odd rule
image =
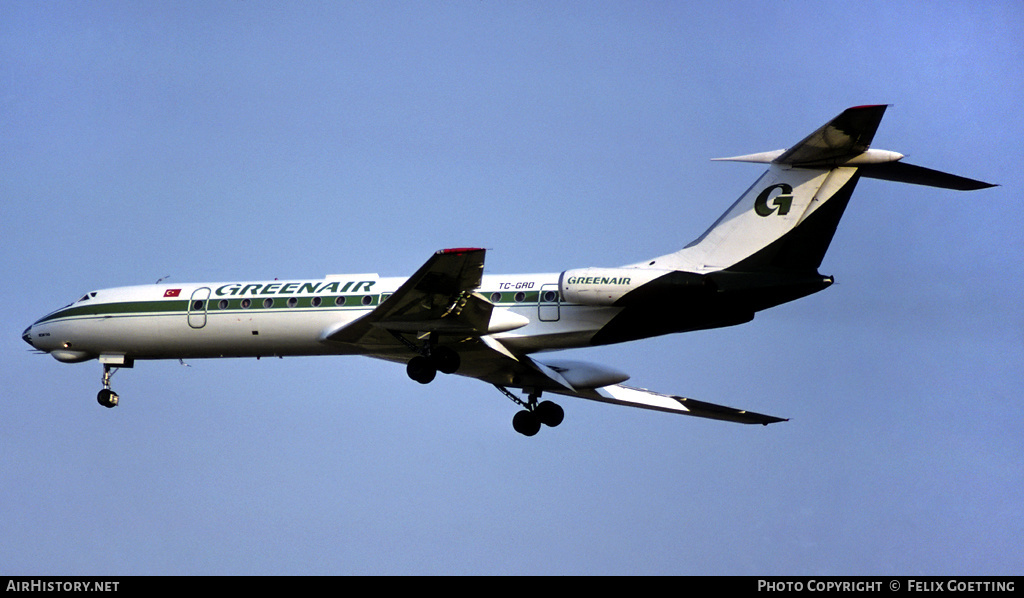
[[[569,300],[587,299],[594,288],[567,282],[614,282],[631,272],[628,288],[594,290],[591,300],[626,307],[594,341],[742,324],[756,311],[827,288],[833,277],[818,267],[861,177],[959,190],[994,186],[871,148],[886,108],[848,109],[788,150],[719,159],[768,170],[685,248],[625,268],[565,272]]]

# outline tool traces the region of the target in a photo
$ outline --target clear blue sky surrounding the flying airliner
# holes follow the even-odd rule
[[[1019,137],[1006,2],[0,0],[0,572],[986,574],[1024,565]],[[571,351],[750,427],[371,359],[28,351],[82,293],[613,266],[697,237],[785,147],[999,183],[864,180],[830,289],[751,324]]]

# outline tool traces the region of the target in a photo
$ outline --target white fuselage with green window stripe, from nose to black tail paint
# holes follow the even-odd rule
[[[486,275],[478,293],[529,321],[495,336],[517,351],[587,346],[622,308],[566,303],[559,273]],[[328,327],[375,309],[406,282],[377,274],[319,281],[142,285],[85,295],[25,331],[26,341],[61,361],[99,355],[130,359],[394,354],[325,343]],[[409,355],[398,353],[401,360]]]

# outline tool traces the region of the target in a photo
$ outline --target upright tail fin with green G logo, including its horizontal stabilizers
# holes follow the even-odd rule
[[[788,150],[720,159],[768,164],[768,171],[688,246],[634,265],[816,272],[861,176],[957,189],[992,186],[870,148],[886,108],[848,109]]]

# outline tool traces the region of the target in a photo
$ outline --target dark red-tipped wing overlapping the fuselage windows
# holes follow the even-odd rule
[[[321,340],[397,345],[392,333],[486,334],[494,305],[473,293],[483,276],[482,249],[442,249],[362,317],[328,329]]]

